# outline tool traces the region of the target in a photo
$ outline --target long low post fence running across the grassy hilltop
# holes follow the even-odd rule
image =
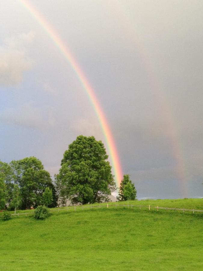
[[[50,209],[51,213],[57,212],[57,213],[67,213],[70,211],[83,211],[83,210],[87,210],[87,209],[103,209],[103,208],[128,208],[128,209],[137,209],[137,210],[156,210],[161,211],[161,210],[166,210],[166,211],[174,211],[174,212],[179,212],[179,213],[185,213],[185,212],[192,212],[193,214],[195,212],[203,212],[203,210],[196,210],[196,209],[181,209],[181,208],[168,208],[168,207],[159,207],[159,206],[152,206],[152,205],[133,205],[133,204],[112,204],[112,203],[107,203],[107,204],[99,204],[99,205],[76,205],[76,206],[66,206],[66,207],[57,207],[55,209]],[[25,213],[10,213],[11,217],[19,217],[21,215],[25,215],[25,216],[33,216],[34,211],[29,211],[29,212],[25,212]],[[3,215],[0,215],[0,219],[3,218]]]

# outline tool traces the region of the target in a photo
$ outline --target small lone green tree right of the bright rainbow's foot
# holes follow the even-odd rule
[[[117,199],[119,201],[135,200],[136,194],[137,190],[135,189],[134,183],[130,180],[130,175],[123,175]]]

